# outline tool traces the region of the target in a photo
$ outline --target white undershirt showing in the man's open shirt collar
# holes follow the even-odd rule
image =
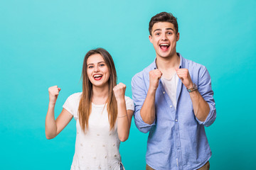
[[[164,85],[164,89],[166,90],[166,93],[171,98],[171,102],[174,105],[174,108],[176,109],[177,106],[177,99],[176,99],[176,93],[177,93],[177,86],[178,86],[178,76],[175,73],[171,79],[166,79],[164,77],[161,77],[162,84]]]

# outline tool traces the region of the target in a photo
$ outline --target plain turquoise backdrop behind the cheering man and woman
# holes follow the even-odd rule
[[[255,167],[256,1],[0,1],[0,169],[70,169],[75,120],[46,140],[48,87],[65,99],[81,91],[85,53],[104,47],[127,84],[153,62],[151,16],[178,17],[183,57],[206,65],[217,119],[206,128],[210,169]],[[144,169],[147,135],[132,123],[120,152],[126,169]]]

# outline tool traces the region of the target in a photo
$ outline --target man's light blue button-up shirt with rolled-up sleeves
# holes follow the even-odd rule
[[[161,80],[156,90],[156,119],[151,125],[144,123],[140,110],[149,89],[149,72],[156,68],[153,62],[132,78],[132,98],[135,103],[134,120],[141,132],[149,132],[146,164],[157,170],[198,169],[210,159],[211,151],[204,126],[211,125],[216,118],[215,102],[211,89],[210,74],[206,67],[180,54],[180,68],[188,69],[193,83],[210,106],[204,122],[193,112],[191,97],[181,80],[177,86],[176,110],[171,103]]]

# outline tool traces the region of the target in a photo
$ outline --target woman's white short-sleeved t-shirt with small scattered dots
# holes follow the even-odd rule
[[[119,170],[121,156],[119,154],[120,140],[117,134],[117,123],[110,131],[107,115],[107,104],[95,105],[92,103],[92,112],[89,117],[89,128],[82,132],[78,119],[78,106],[82,92],[72,94],[65,101],[63,108],[73,115],[77,128],[75,140],[75,154],[71,170]],[[125,96],[127,110],[134,111],[131,98]]]

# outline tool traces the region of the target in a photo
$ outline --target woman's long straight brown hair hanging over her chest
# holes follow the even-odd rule
[[[109,84],[109,96],[107,98],[107,113],[110,122],[110,130],[114,128],[114,123],[117,120],[117,101],[114,97],[113,88],[117,85],[117,72],[114,67],[114,61],[107,50],[103,48],[97,48],[95,50],[90,50],[85,55],[84,62],[82,64],[82,96],[80,98],[80,103],[78,107],[79,123],[82,128],[82,131],[88,129],[88,120],[90,113],[92,111],[92,83],[89,80],[87,75],[87,59],[91,55],[100,54],[103,57],[103,60],[107,64],[107,69],[110,72],[110,79],[108,80]]]

